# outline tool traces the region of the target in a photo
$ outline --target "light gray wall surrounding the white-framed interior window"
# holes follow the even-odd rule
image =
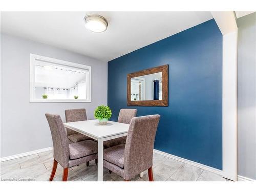
[[[57,38],[57,37],[56,37]],[[30,53],[92,66],[91,103],[29,103]],[[1,157],[52,146],[45,113],[86,108],[107,103],[107,62],[19,37],[1,34]]]

